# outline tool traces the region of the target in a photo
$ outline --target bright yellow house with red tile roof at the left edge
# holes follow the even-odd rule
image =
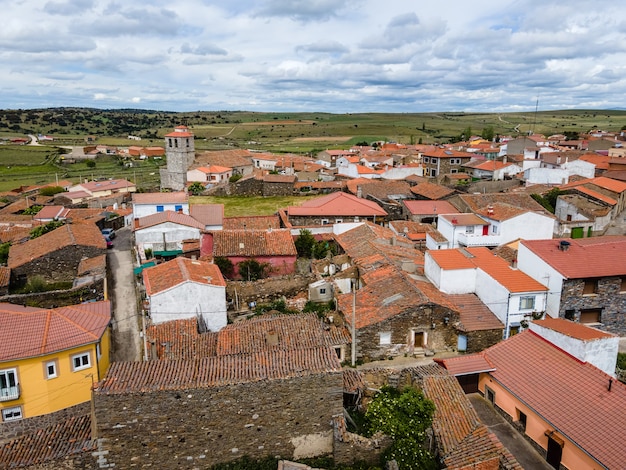
[[[111,304],[0,304],[0,412],[7,422],[87,402],[111,349]]]

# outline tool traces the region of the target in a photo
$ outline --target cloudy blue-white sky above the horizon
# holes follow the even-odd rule
[[[0,109],[626,108],[619,0],[0,0]]]

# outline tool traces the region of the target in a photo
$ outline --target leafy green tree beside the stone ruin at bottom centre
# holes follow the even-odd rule
[[[394,440],[385,452],[400,470],[435,469],[435,459],[425,449],[426,430],[435,413],[435,404],[415,388],[399,391],[383,387],[365,413],[371,433],[382,432]]]

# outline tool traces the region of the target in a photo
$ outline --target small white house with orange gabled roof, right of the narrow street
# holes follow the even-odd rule
[[[142,274],[153,323],[198,317],[210,331],[226,325],[226,282],[216,265],[178,257]]]

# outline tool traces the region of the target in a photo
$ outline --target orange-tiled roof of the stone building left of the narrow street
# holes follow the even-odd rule
[[[65,224],[25,243],[12,245],[7,264],[14,269],[68,246],[91,246],[106,250],[106,242],[95,224]]]

